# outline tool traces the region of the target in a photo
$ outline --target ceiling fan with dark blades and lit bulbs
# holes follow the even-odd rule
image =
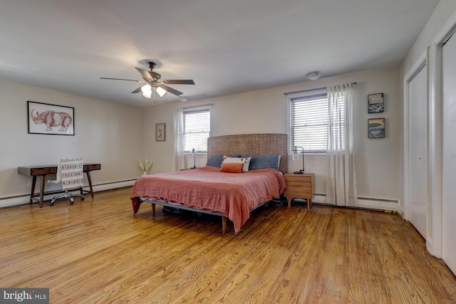
[[[148,61],[147,65],[149,66],[150,70],[144,70],[142,68],[136,68],[138,72],[141,73],[142,75],[142,80],[133,80],[133,79],[123,79],[123,78],[105,78],[105,77],[100,77],[100,79],[110,79],[110,80],[127,80],[127,81],[135,81],[137,83],[145,83],[145,85],[141,85],[139,88],[134,90],[132,93],[140,93],[142,92],[142,95],[145,98],[151,98],[152,97],[152,89],[155,89],[162,97],[165,95],[166,92],[170,92],[171,94],[174,94],[176,96],[182,95],[183,93],[175,90],[173,88],[170,88],[167,85],[195,85],[195,82],[191,79],[180,79],[180,80],[162,80],[162,75],[160,75],[157,72],[154,72],[153,69],[155,68],[156,63],[152,61]]]

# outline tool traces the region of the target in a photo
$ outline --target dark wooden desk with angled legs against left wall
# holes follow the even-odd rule
[[[84,164],[83,171],[87,174],[88,179],[88,186],[90,187],[90,191],[83,190],[81,188],[81,194],[83,192],[90,193],[93,197],[93,189],[92,189],[92,179],[90,179],[90,171],[93,170],[100,170],[101,164]],[[57,165],[52,164],[50,166],[31,166],[31,167],[18,167],[17,168],[18,174],[28,175],[29,177],[33,177],[31,182],[31,194],[30,194],[30,204],[33,200],[40,202],[40,208],[43,207],[43,196],[44,196],[44,184],[46,184],[46,175],[47,174],[56,174],[57,173]],[[40,198],[36,199],[35,196],[35,185],[36,185],[36,177],[41,177],[41,188],[40,188]]]

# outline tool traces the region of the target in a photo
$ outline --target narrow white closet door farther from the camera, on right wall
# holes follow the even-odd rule
[[[422,68],[408,85],[408,180],[410,223],[426,239],[427,214],[427,72]]]

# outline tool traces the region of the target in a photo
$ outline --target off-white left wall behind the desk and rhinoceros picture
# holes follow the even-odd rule
[[[28,134],[27,100],[73,107],[75,136]],[[21,166],[83,157],[85,162],[101,163],[101,170],[91,176],[94,185],[108,184],[104,188],[142,173],[137,164],[144,153],[140,108],[4,80],[0,80],[0,105],[0,206],[28,201],[31,177],[17,174]],[[46,191],[52,189],[58,186],[46,187]]]

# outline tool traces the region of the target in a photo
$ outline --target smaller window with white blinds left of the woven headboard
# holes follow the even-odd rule
[[[210,134],[210,108],[184,108],[182,144],[184,152],[207,152]]]

